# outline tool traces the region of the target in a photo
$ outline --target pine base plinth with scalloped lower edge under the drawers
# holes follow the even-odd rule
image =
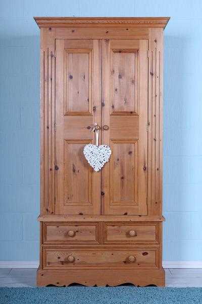
[[[161,270],[37,270],[37,286],[118,286],[132,283],[135,286],[165,286],[165,271]]]

